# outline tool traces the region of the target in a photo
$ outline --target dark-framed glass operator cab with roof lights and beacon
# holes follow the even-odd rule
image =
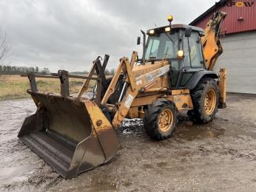
[[[200,70],[205,70],[199,27],[185,24],[170,24],[147,30],[142,64],[154,64],[163,59],[170,62],[171,86],[184,89],[186,84]],[[140,39],[138,39],[139,41]]]

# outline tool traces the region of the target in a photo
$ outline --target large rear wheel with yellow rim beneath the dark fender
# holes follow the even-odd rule
[[[203,78],[191,92],[194,109],[188,112],[190,120],[195,123],[209,123],[218,111],[220,93],[218,85],[212,78]]]

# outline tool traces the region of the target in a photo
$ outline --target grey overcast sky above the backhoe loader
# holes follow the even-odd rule
[[[0,24],[11,43],[11,65],[49,67],[51,72],[89,70],[110,55],[109,69],[131,57],[140,30],[189,24],[216,0],[0,0]]]

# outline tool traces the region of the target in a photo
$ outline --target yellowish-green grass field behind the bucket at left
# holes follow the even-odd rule
[[[70,78],[70,93],[78,93],[84,80]],[[61,89],[59,79],[36,78],[38,90],[41,92],[59,93]],[[95,85],[95,81],[90,81],[90,90]],[[0,75],[0,100],[30,97],[27,94],[30,83],[27,78],[19,75]]]

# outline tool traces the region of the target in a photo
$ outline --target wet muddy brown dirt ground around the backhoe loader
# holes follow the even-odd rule
[[[181,115],[161,142],[125,120],[112,161],[65,180],[17,138],[33,101],[1,101],[0,191],[255,191],[256,96],[228,95],[227,105],[204,126]]]

